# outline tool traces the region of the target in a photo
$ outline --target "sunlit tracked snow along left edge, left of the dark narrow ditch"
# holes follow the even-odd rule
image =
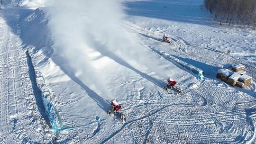
[[[12,10],[5,6],[0,11],[0,143],[50,142],[49,128],[33,93],[22,41],[7,24],[19,18],[12,15]]]

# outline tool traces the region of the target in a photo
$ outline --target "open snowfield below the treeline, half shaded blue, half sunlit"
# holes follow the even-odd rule
[[[200,9],[203,0],[123,0],[127,20],[150,31],[180,36],[195,47],[256,62],[256,32],[219,27]],[[225,25],[224,25],[225,26]]]

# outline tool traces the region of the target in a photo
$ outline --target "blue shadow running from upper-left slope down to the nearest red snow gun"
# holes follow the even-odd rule
[[[48,20],[46,18],[46,14],[44,13],[42,8],[33,10],[26,8],[8,8],[1,9],[3,13],[2,18],[5,19],[7,25],[11,28],[12,32],[20,37],[23,42],[23,47],[35,47],[34,53],[39,50],[42,50],[43,54],[47,57],[51,57],[53,54],[53,49],[49,45],[49,28],[46,26]],[[29,23],[29,26],[24,24],[24,18],[27,18],[33,12],[37,13],[36,19],[33,19],[33,23]],[[22,15],[21,15],[22,14]],[[13,18],[13,16],[16,18]],[[21,32],[19,31],[21,29]],[[52,44],[52,43],[50,43]],[[53,45],[53,44],[52,44]],[[99,96],[95,91],[91,90],[88,86],[86,86],[79,78],[75,76],[72,72],[72,69],[68,65],[64,65],[63,63],[66,59],[64,57],[59,56],[57,59],[52,59],[54,63],[56,63],[61,70],[66,73],[73,81],[75,81],[78,85],[81,86],[83,90],[85,90],[88,95],[93,99],[97,105],[99,105],[104,111],[109,109],[109,102]]]

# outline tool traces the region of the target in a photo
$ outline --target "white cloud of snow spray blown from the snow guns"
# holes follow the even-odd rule
[[[51,5],[48,25],[55,47],[64,52],[65,59],[76,73],[84,75],[84,80],[101,85],[97,83],[100,76],[93,75],[97,70],[88,62],[88,49],[141,75],[145,74],[142,71],[149,70],[166,78],[164,70],[159,68],[160,62],[151,58],[150,51],[128,36],[121,25],[124,14],[118,0],[49,0],[48,4]],[[104,87],[101,86],[101,90]],[[103,92],[108,94],[108,90]]]

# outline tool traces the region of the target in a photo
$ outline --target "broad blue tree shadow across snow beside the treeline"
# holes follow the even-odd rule
[[[191,3],[191,0],[146,0],[125,1],[124,11],[128,15],[173,20],[183,23],[209,25],[205,21],[207,13],[200,11],[202,3]]]

